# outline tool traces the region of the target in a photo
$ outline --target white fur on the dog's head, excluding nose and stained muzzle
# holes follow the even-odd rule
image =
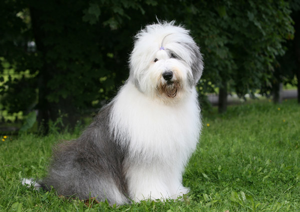
[[[187,83],[186,78],[188,75],[192,75],[191,66],[195,60],[191,47],[182,45],[183,43],[195,44],[189,36],[188,30],[174,26],[174,22],[154,24],[146,26],[135,38],[134,48],[129,60],[129,81],[137,80],[141,92],[155,97],[157,93],[156,85],[161,79],[161,73],[172,70],[178,74],[175,77],[182,80],[183,88],[187,89],[185,85]],[[182,60],[169,58],[166,51],[159,49],[161,46],[165,50],[175,52]],[[153,62],[155,58],[158,59],[156,63]],[[200,58],[196,59],[201,61],[201,55]],[[202,61],[199,65],[198,72],[200,74],[194,79],[195,82],[200,79],[203,70]]]

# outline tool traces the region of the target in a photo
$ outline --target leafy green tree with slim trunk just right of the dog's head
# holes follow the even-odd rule
[[[193,12],[188,25],[202,46],[203,78],[219,88],[219,112],[226,110],[227,91],[243,97],[270,83],[275,57],[293,36],[286,2],[197,2],[186,10]]]

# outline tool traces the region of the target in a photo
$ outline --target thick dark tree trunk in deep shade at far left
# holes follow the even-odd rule
[[[72,104],[72,99],[70,97],[58,97],[58,101],[55,103],[47,99],[49,94],[55,92],[47,85],[48,81],[53,79],[55,74],[62,75],[64,73],[63,71],[57,71],[58,68],[53,64],[53,61],[46,59],[46,55],[48,52],[51,52],[53,47],[45,42],[47,32],[41,27],[45,24],[45,21],[40,18],[43,12],[39,8],[34,8],[34,6],[30,7],[29,10],[36,50],[42,58],[42,66],[37,76],[38,104],[36,109],[38,110],[39,132],[47,134],[49,131],[49,120],[56,121],[60,115],[62,115],[63,125],[68,125],[72,128],[77,123],[76,121],[79,120],[78,108]]]

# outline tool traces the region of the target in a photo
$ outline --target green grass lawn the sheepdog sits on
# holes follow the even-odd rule
[[[215,111],[203,111],[200,143],[183,175],[191,191],[183,201],[89,208],[26,188],[20,178],[45,175],[52,145],[77,136],[29,134],[0,141],[0,211],[299,211],[300,106],[289,100]]]

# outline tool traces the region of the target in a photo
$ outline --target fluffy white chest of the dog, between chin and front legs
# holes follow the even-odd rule
[[[126,142],[129,152],[176,157],[194,150],[201,126],[196,99],[175,106],[130,100],[119,99],[113,110],[115,135]]]

